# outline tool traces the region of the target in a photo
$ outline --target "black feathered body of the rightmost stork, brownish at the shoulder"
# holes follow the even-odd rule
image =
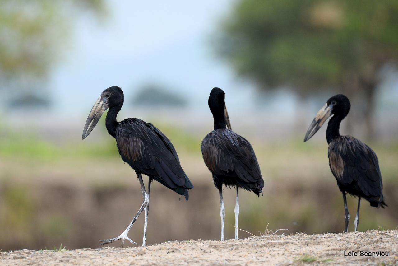
[[[351,136],[340,136],[330,142],[328,156],[341,190],[367,199],[371,206],[386,205],[378,158],[368,145]]]

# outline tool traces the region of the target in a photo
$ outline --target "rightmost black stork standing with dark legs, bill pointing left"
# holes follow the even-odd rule
[[[345,209],[345,229],[348,230],[349,213],[345,195],[351,194],[358,197],[357,215],[354,220],[355,231],[359,223],[359,205],[361,198],[370,202],[372,207],[387,206],[383,199],[383,183],[376,153],[362,141],[351,136],[341,136],[339,127],[349,110],[351,104],[346,96],[337,94],[330,98],[318,111],[312,121],[304,142],[308,141],[322,127],[328,117],[330,118],[326,129],[328,141],[328,157],[330,170],[337,180],[337,185],[343,193]]]

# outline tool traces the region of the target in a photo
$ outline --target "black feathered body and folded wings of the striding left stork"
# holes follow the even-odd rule
[[[193,188],[183,171],[171,141],[151,123],[128,118],[116,129],[116,141],[123,161],[136,172],[152,176],[164,186],[188,198]]]

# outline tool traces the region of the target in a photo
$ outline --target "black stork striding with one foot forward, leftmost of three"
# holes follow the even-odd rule
[[[173,144],[159,129],[151,123],[146,123],[137,118],[127,118],[121,122],[116,120],[117,113],[119,113],[123,105],[123,99],[123,91],[117,86],[104,90],[88,115],[82,139],[85,139],[90,134],[100,120],[101,115],[109,108],[105,119],[106,129],[109,135],[116,139],[122,160],[135,170],[141,185],[144,201],[127,229],[119,237],[104,239],[100,243],[103,245],[121,240],[123,247],[124,241],[128,240],[136,244],[129,239],[127,234],[140,213],[145,210],[144,237],[142,239],[142,246],[145,246],[149,192],[152,180],[158,181],[179,195],[184,195],[186,200],[188,200],[188,190],[193,188],[193,185],[181,168]],[[145,190],[142,174],[149,177],[148,192]]]

